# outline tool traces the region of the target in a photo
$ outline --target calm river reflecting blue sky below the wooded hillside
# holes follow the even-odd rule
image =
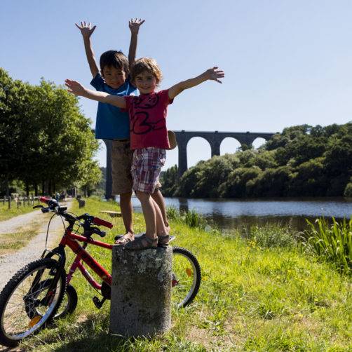
[[[117,199],[119,201],[119,199]],[[141,212],[140,201],[133,197],[133,208]],[[352,215],[352,198],[165,198],[166,207],[195,210],[221,229],[241,229],[265,224],[290,224],[292,229],[307,228],[306,219],[324,215],[341,220]]]

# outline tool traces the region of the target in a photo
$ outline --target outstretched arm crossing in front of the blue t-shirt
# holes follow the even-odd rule
[[[65,80],[65,86],[67,86],[67,91],[74,95],[79,95],[80,97],[88,97],[91,100],[97,100],[98,102],[106,102],[107,104],[115,105],[115,107],[120,107],[124,109],[126,107],[126,101],[124,97],[119,95],[111,95],[105,92],[96,92],[95,90],[90,90],[81,85],[77,81],[71,81],[70,79]]]

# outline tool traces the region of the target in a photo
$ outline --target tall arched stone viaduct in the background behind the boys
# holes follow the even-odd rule
[[[92,130],[95,132],[94,130]],[[178,180],[187,170],[187,144],[191,138],[202,137],[209,144],[211,148],[211,156],[220,155],[220,145],[222,140],[227,137],[234,138],[241,143],[241,146],[252,144],[257,138],[264,138],[270,140],[275,133],[265,132],[201,132],[201,131],[174,131],[178,147]],[[111,149],[112,140],[103,140],[107,147],[107,184],[105,188],[105,197],[112,198],[112,178],[111,178]],[[233,151],[234,152],[234,151]]]

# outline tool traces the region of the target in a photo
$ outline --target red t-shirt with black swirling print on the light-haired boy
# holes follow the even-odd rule
[[[148,95],[128,95],[126,109],[130,115],[130,149],[157,147],[170,148],[166,114],[169,100],[168,90],[159,90]]]

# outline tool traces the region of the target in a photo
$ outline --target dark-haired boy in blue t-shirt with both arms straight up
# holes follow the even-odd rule
[[[84,48],[93,80],[90,84],[100,92],[111,95],[137,95],[137,88],[130,83],[129,66],[135,62],[137,37],[144,20],[133,18],[129,21],[131,31],[128,58],[121,51],[108,50],[100,56],[100,69],[97,66],[90,36],[95,28],[90,23],[76,24],[83,36]],[[101,72],[101,73],[100,73]],[[133,181],[130,174],[133,151],[130,150],[130,119],[128,111],[122,112],[119,107],[99,102],[95,123],[95,138],[113,140],[111,151],[112,194],[120,195],[120,207],[126,233],[116,243],[133,241],[133,208],[131,203]],[[160,187],[160,185],[159,185]],[[152,197],[163,215],[165,227],[170,231],[166,218],[165,203],[161,191],[156,189]]]

